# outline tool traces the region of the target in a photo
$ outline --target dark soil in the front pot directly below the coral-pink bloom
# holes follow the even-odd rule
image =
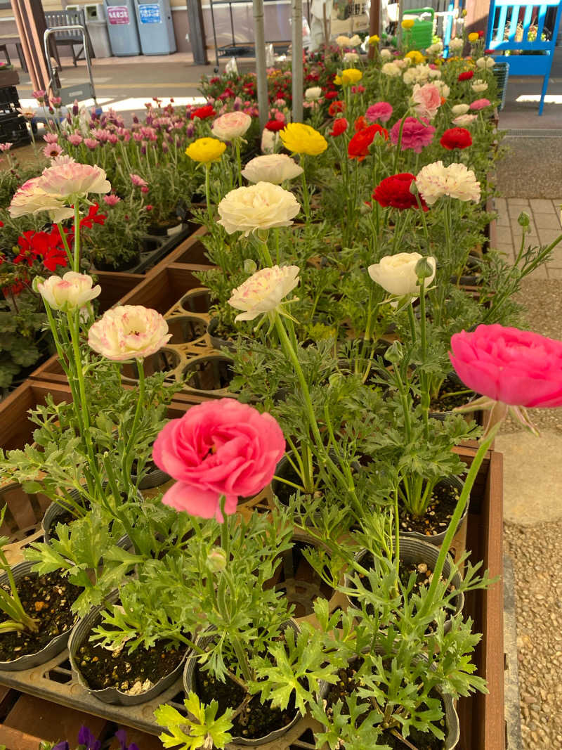
[[[210,703],[217,700],[219,713],[226,708],[237,709],[246,697],[246,691],[241,685],[237,685],[229,677],[226,682],[219,682],[210,673],[195,669],[196,693],[202,701]],[[271,708],[269,703],[260,703],[259,695],[254,696],[241,713],[233,719],[232,736],[244,737],[245,739],[256,739],[265,737],[270,732],[282,729],[294,719],[294,699],[288,702],[287,708],[282,711]]]

